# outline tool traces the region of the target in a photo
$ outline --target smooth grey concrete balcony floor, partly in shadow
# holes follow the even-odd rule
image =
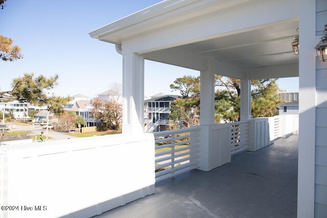
[[[154,195],[96,217],[296,217],[297,145],[296,135],[277,139],[210,172],[160,181]]]

